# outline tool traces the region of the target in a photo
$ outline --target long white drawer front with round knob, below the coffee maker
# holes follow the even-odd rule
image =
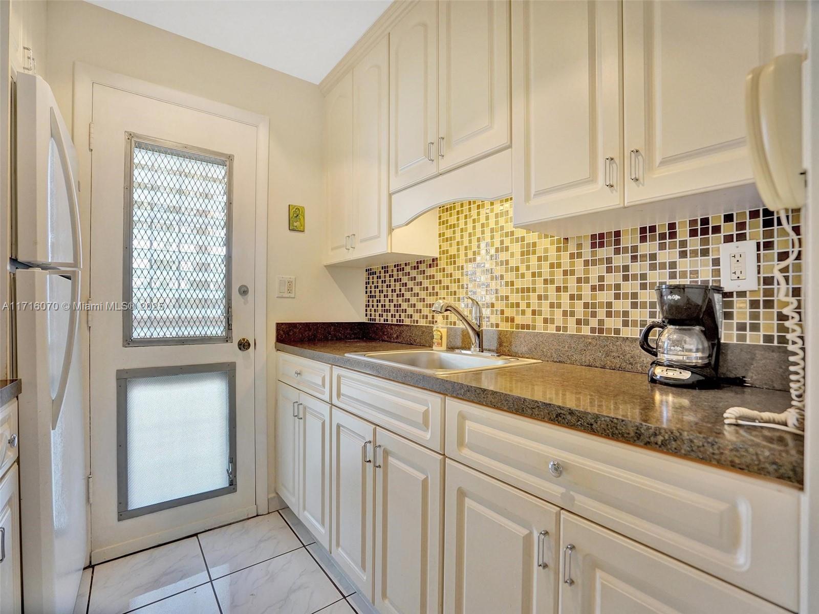
[[[448,457],[797,609],[798,490],[459,400],[446,422]]]

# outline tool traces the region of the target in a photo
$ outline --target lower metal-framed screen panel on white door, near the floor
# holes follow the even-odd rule
[[[236,363],[116,379],[119,520],[236,492]]]

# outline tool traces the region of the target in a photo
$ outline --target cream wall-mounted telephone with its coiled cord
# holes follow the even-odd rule
[[[785,269],[799,256],[799,236],[791,228],[788,210],[805,204],[802,165],[802,63],[799,53],[776,56],[751,70],[745,79],[745,125],[748,151],[759,196],[768,209],[779,213],[790,236],[790,254],[774,267],[777,306],[788,319],[790,349],[790,408],[782,413],[732,407],[723,414],[726,424],[804,431],[805,361],[798,301],[790,296]]]

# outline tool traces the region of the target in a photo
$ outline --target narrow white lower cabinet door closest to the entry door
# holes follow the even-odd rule
[[[299,509],[299,392],[287,384],[276,386],[276,492],[287,507]]]

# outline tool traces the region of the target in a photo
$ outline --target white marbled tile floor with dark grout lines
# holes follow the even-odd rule
[[[74,614],[370,614],[283,508],[85,570]]]

